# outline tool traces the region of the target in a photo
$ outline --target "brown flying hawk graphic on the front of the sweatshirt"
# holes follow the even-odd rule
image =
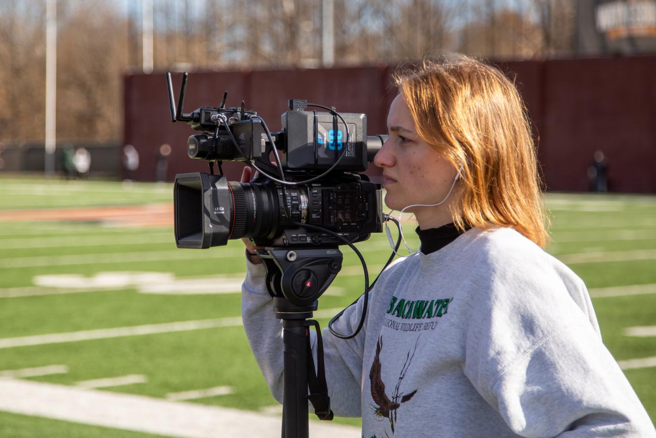
[[[390,426],[392,426],[392,433],[394,433],[394,422],[396,421],[396,416],[397,416],[397,411],[398,408],[401,407],[401,404],[409,401],[416,393],[417,389],[412,391],[411,393],[403,394],[400,393],[400,387],[401,387],[401,382],[403,382],[403,378],[405,378],[405,373],[407,373],[407,370],[410,366],[410,363],[412,362],[413,357],[415,357],[415,351],[417,351],[417,344],[419,343],[419,338],[417,338],[417,342],[415,342],[415,349],[412,352],[412,355],[408,351],[407,356],[405,358],[405,364],[403,364],[403,368],[401,368],[401,374],[399,376],[399,380],[396,383],[396,387],[394,388],[394,393],[392,393],[392,399],[387,396],[385,393],[385,383],[382,381],[382,378],[380,376],[380,371],[381,371],[381,364],[380,364],[380,350],[382,349],[382,336],[378,338],[378,342],[376,344],[376,355],[373,359],[373,364],[371,364],[371,371],[369,371],[369,380],[371,381],[371,398],[373,399],[374,403],[376,403],[378,406],[375,405],[370,405],[371,406],[371,411],[375,415],[377,420],[382,420],[382,418],[387,418],[390,420]]]

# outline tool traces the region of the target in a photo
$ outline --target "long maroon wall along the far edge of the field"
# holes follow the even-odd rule
[[[592,155],[602,150],[613,192],[656,192],[656,56],[503,62],[525,100],[539,142],[538,154],[550,190],[587,190]],[[228,106],[241,100],[280,128],[287,99],[334,105],[367,114],[368,133],[386,131],[386,112],[396,91],[388,67],[330,70],[201,72],[189,76],[184,110],[216,106],[228,90]],[[180,77],[174,76],[177,95]],[[176,96],[177,97],[177,96]],[[205,162],[186,155],[186,123],[171,123],[163,73],[125,77],[125,144],[141,165],[136,179],[155,178],[156,151],[173,146],[167,179],[205,171]],[[378,173],[370,166],[369,173]],[[224,164],[237,179],[240,164]]]

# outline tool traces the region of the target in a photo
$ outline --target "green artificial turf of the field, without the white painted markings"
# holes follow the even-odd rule
[[[172,186],[123,185],[108,181],[0,179],[0,212],[41,208],[171,204]],[[548,194],[555,257],[636,252],[637,259],[569,266],[589,289],[656,284],[656,197]],[[409,215],[408,215],[409,216]],[[404,225],[411,248],[419,246],[412,223]],[[396,230],[392,229],[396,236]],[[375,234],[357,244],[370,281],[390,255],[387,237]],[[400,253],[407,252],[401,246]],[[359,260],[342,247],[344,269],[319,309],[338,309],[363,292]],[[67,294],[8,297],[37,291],[41,276],[78,275],[91,281],[103,273],[168,273],[174,280],[244,273],[243,246],[180,250],[171,227],[112,227],[104,221],[5,221],[0,223],[0,341],[108,328],[239,317],[239,289],[226,294],[144,294],[139,284]],[[57,277],[59,278],[59,277]],[[226,277],[227,278],[227,277]],[[41,292],[52,292],[50,288]],[[64,288],[64,292],[66,292]],[[56,292],[56,291],[55,291]],[[193,292],[193,291],[192,291]],[[594,294],[593,294],[594,296]],[[656,356],[656,338],[625,336],[630,326],[656,324],[656,294],[594,297],[605,344],[617,360]],[[320,319],[323,327],[327,319]],[[259,411],[276,405],[249,348],[243,328],[226,326],[179,332],[0,349],[0,371],[63,364],[66,374],[30,378],[73,385],[128,374],[146,383],[102,389],[150,397],[226,385],[230,395],[190,403]],[[628,380],[656,420],[656,368],[626,370]],[[1,395],[0,395],[1,396]],[[359,419],[337,419],[359,425]],[[78,425],[0,412],[2,437],[146,437],[140,433]]]

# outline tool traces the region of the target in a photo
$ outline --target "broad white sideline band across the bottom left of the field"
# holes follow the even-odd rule
[[[168,437],[280,436],[280,419],[255,412],[26,380],[0,380],[0,410]],[[361,437],[357,427],[310,422],[316,438]]]

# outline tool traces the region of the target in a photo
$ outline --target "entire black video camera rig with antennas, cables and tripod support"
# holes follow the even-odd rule
[[[218,107],[203,106],[184,113],[187,77],[186,73],[182,76],[176,108],[171,74],[167,73],[171,121],[186,121],[201,131],[189,137],[187,153],[190,158],[209,161],[210,173],[175,177],[176,244],[178,248],[209,248],[245,237],[257,248],[266,267],[266,287],[274,297],[276,317],[283,320],[283,436],[305,438],[308,399],[319,418],[333,418],[323,372],[321,330],[318,322],[307,318],[312,317],[319,296],[342,267],[338,246],[348,245],[363,265],[361,319],[352,334],[337,333],[332,324],[342,311],[329,328],[335,336],[349,339],[363,326],[369,274],[353,244],[380,232],[384,217],[380,186],[358,172],[367,169],[386,136],[367,137],[365,114],[340,114],[334,107],[306,100],[289,100],[281,131],[271,133],[255,111],[245,109],[243,101],[241,107],[226,108],[227,91]],[[258,175],[251,183],[227,181],[222,161],[244,162],[255,167]],[[215,162],[219,175],[214,175]],[[399,243],[397,240],[395,252]],[[316,374],[309,326],[317,329]]]

